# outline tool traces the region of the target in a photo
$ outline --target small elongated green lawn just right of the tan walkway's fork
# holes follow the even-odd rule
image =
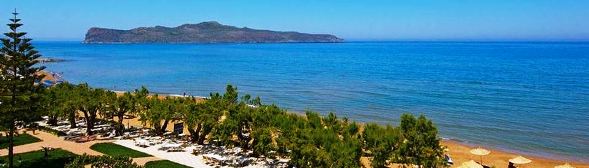
[[[139,152],[114,143],[97,143],[90,146],[90,149],[110,156],[127,156],[132,158],[148,157],[149,154]]]

